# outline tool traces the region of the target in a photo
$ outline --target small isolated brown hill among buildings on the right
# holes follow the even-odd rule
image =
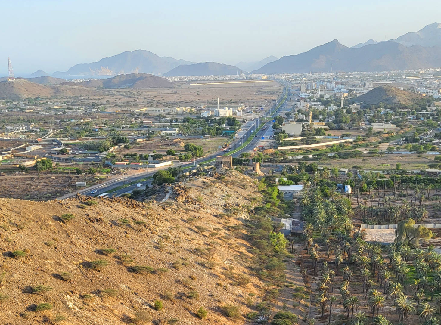
[[[400,90],[396,87],[386,85],[376,87],[364,95],[355,97],[352,101],[363,102],[363,105],[377,105],[379,103],[411,105],[415,100],[422,98],[422,96],[412,93],[409,90]]]

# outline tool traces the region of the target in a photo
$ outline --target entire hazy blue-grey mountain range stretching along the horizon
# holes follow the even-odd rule
[[[153,73],[164,76],[309,73],[329,71],[388,71],[441,66],[441,23],[434,22],[417,32],[377,42],[370,39],[352,47],[333,40],[297,55],[278,59],[269,56],[258,62],[239,62],[236,66],[215,62],[194,63],[157,56],[146,50],[122,52],[88,64],[76,64],[52,76],[61,78],[105,78],[108,76]],[[38,70],[31,77],[48,75]]]

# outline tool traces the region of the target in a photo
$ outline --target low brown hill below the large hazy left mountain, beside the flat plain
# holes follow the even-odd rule
[[[147,73],[132,73],[128,75],[117,75],[115,77],[107,78],[107,79],[88,80],[79,83],[65,82],[63,85],[105,88],[105,89],[113,89],[113,88],[143,89],[143,88],[173,87],[173,82]]]

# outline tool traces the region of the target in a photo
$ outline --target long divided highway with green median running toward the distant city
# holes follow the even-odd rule
[[[287,99],[289,98],[289,92],[288,92],[288,96]],[[273,114],[271,116],[276,116],[278,114],[278,112],[280,110],[283,110],[284,105],[286,104],[286,100],[284,102],[281,103],[281,105],[279,106],[279,108],[273,112]],[[256,128],[258,128],[261,124],[263,123],[262,128],[257,132],[257,134],[252,135],[253,131],[256,130]],[[262,138],[262,136],[266,133],[266,132],[270,132],[269,130],[271,129],[271,125],[273,124],[273,120],[269,120],[267,122],[262,121],[262,117],[257,117],[254,119],[254,124],[250,127],[250,129],[248,129],[240,138],[236,138],[233,142],[230,143],[229,146],[232,147],[232,150],[234,151],[234,148],[236,147],[240,147],[241,144],[243,142],[246,142],[247,139],[251,136],[252,139],[250,141],[250,143],[248,143],[246,146],[244,146],[243,148],[235,151],[234,153],[231,153],[229,155],[231,155],[232,157],[239,157],[241,153],[245,153],[245,152],[249,152],[252,149],[254,149],[254,147],[257,145],[257,142],[260,138]],[[266,126],[266,130],[265,130],[265,126]],[[268,133],[266,133],[268,134]],[[228,152],[227,152],[228,153]],[[224,151],[218,151],[216,153],[213,153],[209,156],[205,156],[205,157],[199,157],[196,158],[194,161],[189,161],[189,162],[174,162],[173,166],[179,166],[181,165],[183,168],[189,168],[193,165],[197,165],[197,164],[202,164],[203,162],[206,162],[208,160],[210,160],[210,157],[216,157],[216,156],[220,156],[220,155],[224,155],[225,152]],[[210,163],[209,163],[210,164]],[[211,164],[214,164],[214,161],[211,162]],[[204,164],[206,165],[206,164]],[[88,187],[86,189],[83,189],[81,191],[78,191],[79,194],[83,194],[83,195],[92,195],[90,194],[90,191],[93,189],[98,190],[98,192],[96,194],[93,194],[93,196],[97,196],[99,194],[102,193],[109,193],[109,196],[120,196],[121,194],[124,193],[131,193],[131,191],[137,189],[138,187],[136,186],[136,184],[133,185],[129,185],[129,186],[124,186],[127,183],[142,183],[142,187],[140,187],[141,189],[144,189],[146,185],[151,185],[152,183],[152,179],[147,179],[148,177],[153,176],[153,174],[155,174],[158,170],[161,169],[167,169],[170,166],[164,166],[161,168],[147,168],[147,170],[145,172],[140,172],[137,173],[135,175],[131,175],[131,176],[120,176],[116,179],[111,179],[108,180],[102,184],[99,185],[95,185],[93,187]],[[124,186],[124,187],[123,187]],[[118,190],[114,190],[115,188],[118,187],[122,187]],[[72,196],[75,196],[77,194],[77,192],[71,192],[68,194],[65,194],[63,196],[61,196],[58,199],[65,199],[65,198],[70,198]]]

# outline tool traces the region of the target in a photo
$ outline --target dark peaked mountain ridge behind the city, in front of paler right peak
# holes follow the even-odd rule
[[[333,40],[308,52],[284,56],[254,73],[309,73],[327,71],[389,71],[439,67],[441,47],[406,47],[385,41],[348,48]]]

